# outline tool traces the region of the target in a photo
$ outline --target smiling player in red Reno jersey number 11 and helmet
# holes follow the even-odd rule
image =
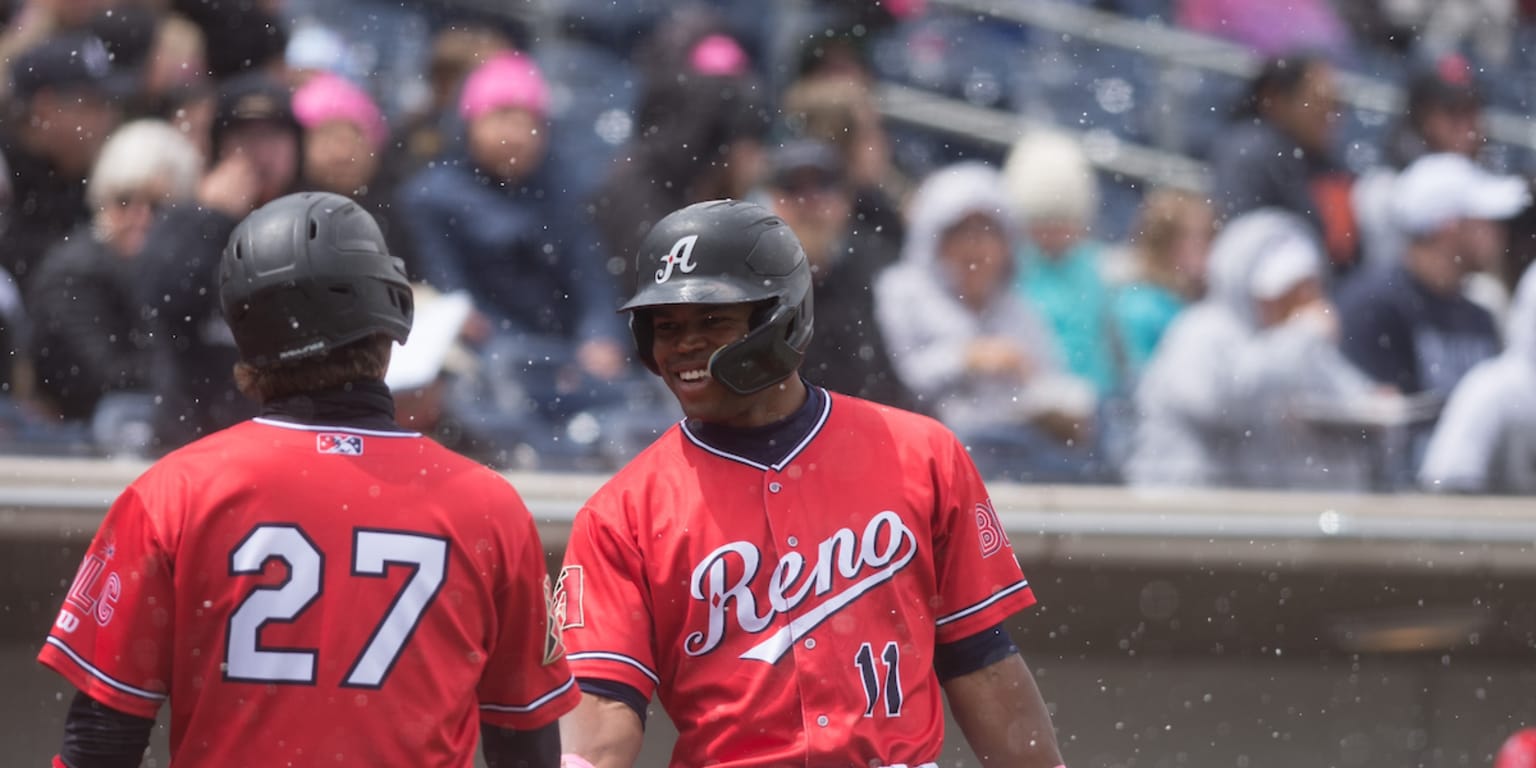
[[[938,422],[797,375],[811,275],[790,227],[699,203],[636,258],[624,309],[687,419],[576,516],[567,765],[633,765],[653,694],[677,766],[931,766],[942,696],[985,763],[1058,765],[1001,627],[1034,596],[982,479]]]

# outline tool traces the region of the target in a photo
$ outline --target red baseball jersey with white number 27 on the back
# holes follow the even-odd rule
[[[505,479],[419,435],[266,419],[118,496],[38,659],[129,714],[169,697],[178,768],[468,768],[482,720],[581,697]]]

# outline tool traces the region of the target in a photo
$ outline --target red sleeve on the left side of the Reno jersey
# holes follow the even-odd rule
[[[593,508],[571,528],[556,596],[576,677],[625,684],[650,699],[660,684],[641,551]]]

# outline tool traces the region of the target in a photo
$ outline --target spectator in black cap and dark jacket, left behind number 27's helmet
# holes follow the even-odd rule
[[[301,127],[290,98],[287,86],[261,72],[226,81],[197,204],[167,207],[144,241],[137,283],[149,312],[157,450],[257,413],[230,375],[238,355],[215,287],[235,224],[301,177]]]

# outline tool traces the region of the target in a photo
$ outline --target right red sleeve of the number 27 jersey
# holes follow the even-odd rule
[[[481,722],[531,731],[576,708],[581,691],[565,662],[551,607],[544,544],[521,501],[507,536],[498,594],[496,645],[478,688]]]

